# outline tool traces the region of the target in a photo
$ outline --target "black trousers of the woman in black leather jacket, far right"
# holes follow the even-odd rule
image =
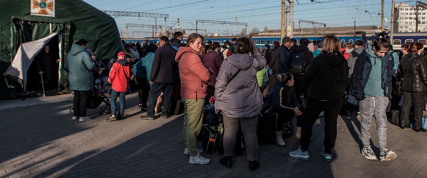
[[[401,125],[408,125],[410,123],[409,109],[411,106],[414,106],[414,115],[415,115],[415,127],[422,127],[423,121],[423,105],[424,99],[426,97],[425,92],[403,92],[403,105],[402,105],[402,115],[401,115]]]

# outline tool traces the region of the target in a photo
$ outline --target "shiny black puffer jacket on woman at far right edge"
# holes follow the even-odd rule
[[[418,54],[409,53],[401,59],[398,79],[402,76],[402,91],[427,92],[427,67]]]

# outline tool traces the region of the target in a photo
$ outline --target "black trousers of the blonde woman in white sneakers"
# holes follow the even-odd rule
[[[307,107],[302,118],[301,126],[301,150],[308,151],[310,146],[311,135],[313,133],[313,125],[319,118],[319,114],[325,111],[325,153],[332,154],[332,149],[335,146],[336,140],[336,120],[339,110],[341,110],[344,100],[338,99],[334,101],[321,101],[319,99],[306,98]]]

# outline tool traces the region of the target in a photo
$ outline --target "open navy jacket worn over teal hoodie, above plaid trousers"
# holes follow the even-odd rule
[[[390,60],[392,56],[386,53],[381,59],[381,87],[384,90],[384,96],[392,98],[392,73]],[[351,95],[358,101],[365,99],[365,87],[371,75],[372,63],[369,54],[365,50],[357,57],[354,63],[354,71],[351,80]]]

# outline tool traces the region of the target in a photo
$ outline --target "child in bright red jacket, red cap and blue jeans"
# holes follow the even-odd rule
[[[125,58],[126,57],[126,58]],[[125,55],[120,52],[117,55],[117,61],[111,67],[108,82],[111,83],[111,115],[106,121],[117,120],[116,116],[116,100],[120,96],[120,117],[123,118],[125,112],[125,94],[128,90],[129,82],[129,61],[132,59],[130,55]]]

